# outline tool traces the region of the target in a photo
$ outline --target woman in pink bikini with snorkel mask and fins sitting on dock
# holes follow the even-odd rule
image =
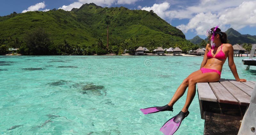
[[[209,40],[211,40],[211,43],[206,45],[204,59],[200,69],[191,73],[186,79],[184,79],[174,93],[171,101],[163,107],[140,109],[144,114],[156,113],[160,111],[173,111],[173,105],[178,99],[180,99],[188,88],[187,99],[180,113],[167,121],[160,129],[160,131],[162,131],[164,134],[174,133],[178,129],[177,127],[180,126],[181,121],[188,116],[188,107],[196,94],[196,83],[217,82],[220,80],[222,66],[227,58],[228,66],[236,81],[246,82],[245,79],[240,79],[237,74],[236,65],[233,59],[233,47],[231,44],[227,44],[226,33],[221,32],[220,28],[216,26],[215,28],[211,28],[211,31],[208,32],[207,36]]]

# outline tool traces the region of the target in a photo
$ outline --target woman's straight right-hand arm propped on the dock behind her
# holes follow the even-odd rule
[[[238,82],[246,82],[246,79],[240,79],[238,74],[237,74],[237,70],[236,70],[236,65],[234,62],[234,49],[233,46],[231,44],[226,44],[227,48],[228,48],[228,66],[231,70],[231,72],[233,73],[236,81]]]

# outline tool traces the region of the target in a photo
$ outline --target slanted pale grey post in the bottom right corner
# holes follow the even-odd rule
[[[255,135],[256,128],[256,85],[254,86],[250,105],[247,111],[244,114],[244,118],[240,129],[238,131],[238,135]]]

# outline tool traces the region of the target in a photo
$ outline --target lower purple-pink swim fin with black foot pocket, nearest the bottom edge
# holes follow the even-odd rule
[[[174,134],[180,127],[182,120],[187,117],[189,111],[184,113],[180,111],[180,113],[170,120],[168,120],[164,125],[161,127],[160,131],[164,133],[164,135],[172,135]]]

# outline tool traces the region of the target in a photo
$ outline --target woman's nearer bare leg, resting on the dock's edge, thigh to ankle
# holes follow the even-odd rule
[[[200,82],[217,82],[220,80],[220,75],[216,72],[209,72],[192,76],[188,81],[188,95],[182,112],[187,112],[192,100],[196,94],[196,83]]]

